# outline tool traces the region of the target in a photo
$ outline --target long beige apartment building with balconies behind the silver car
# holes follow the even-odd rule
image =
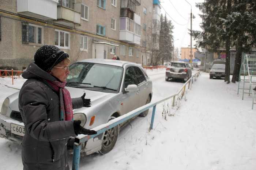
[[[146,65],[153,6],[153,0],[1,0],[0,66],[25,68],[44,44],[72,62],[117,55]]]

